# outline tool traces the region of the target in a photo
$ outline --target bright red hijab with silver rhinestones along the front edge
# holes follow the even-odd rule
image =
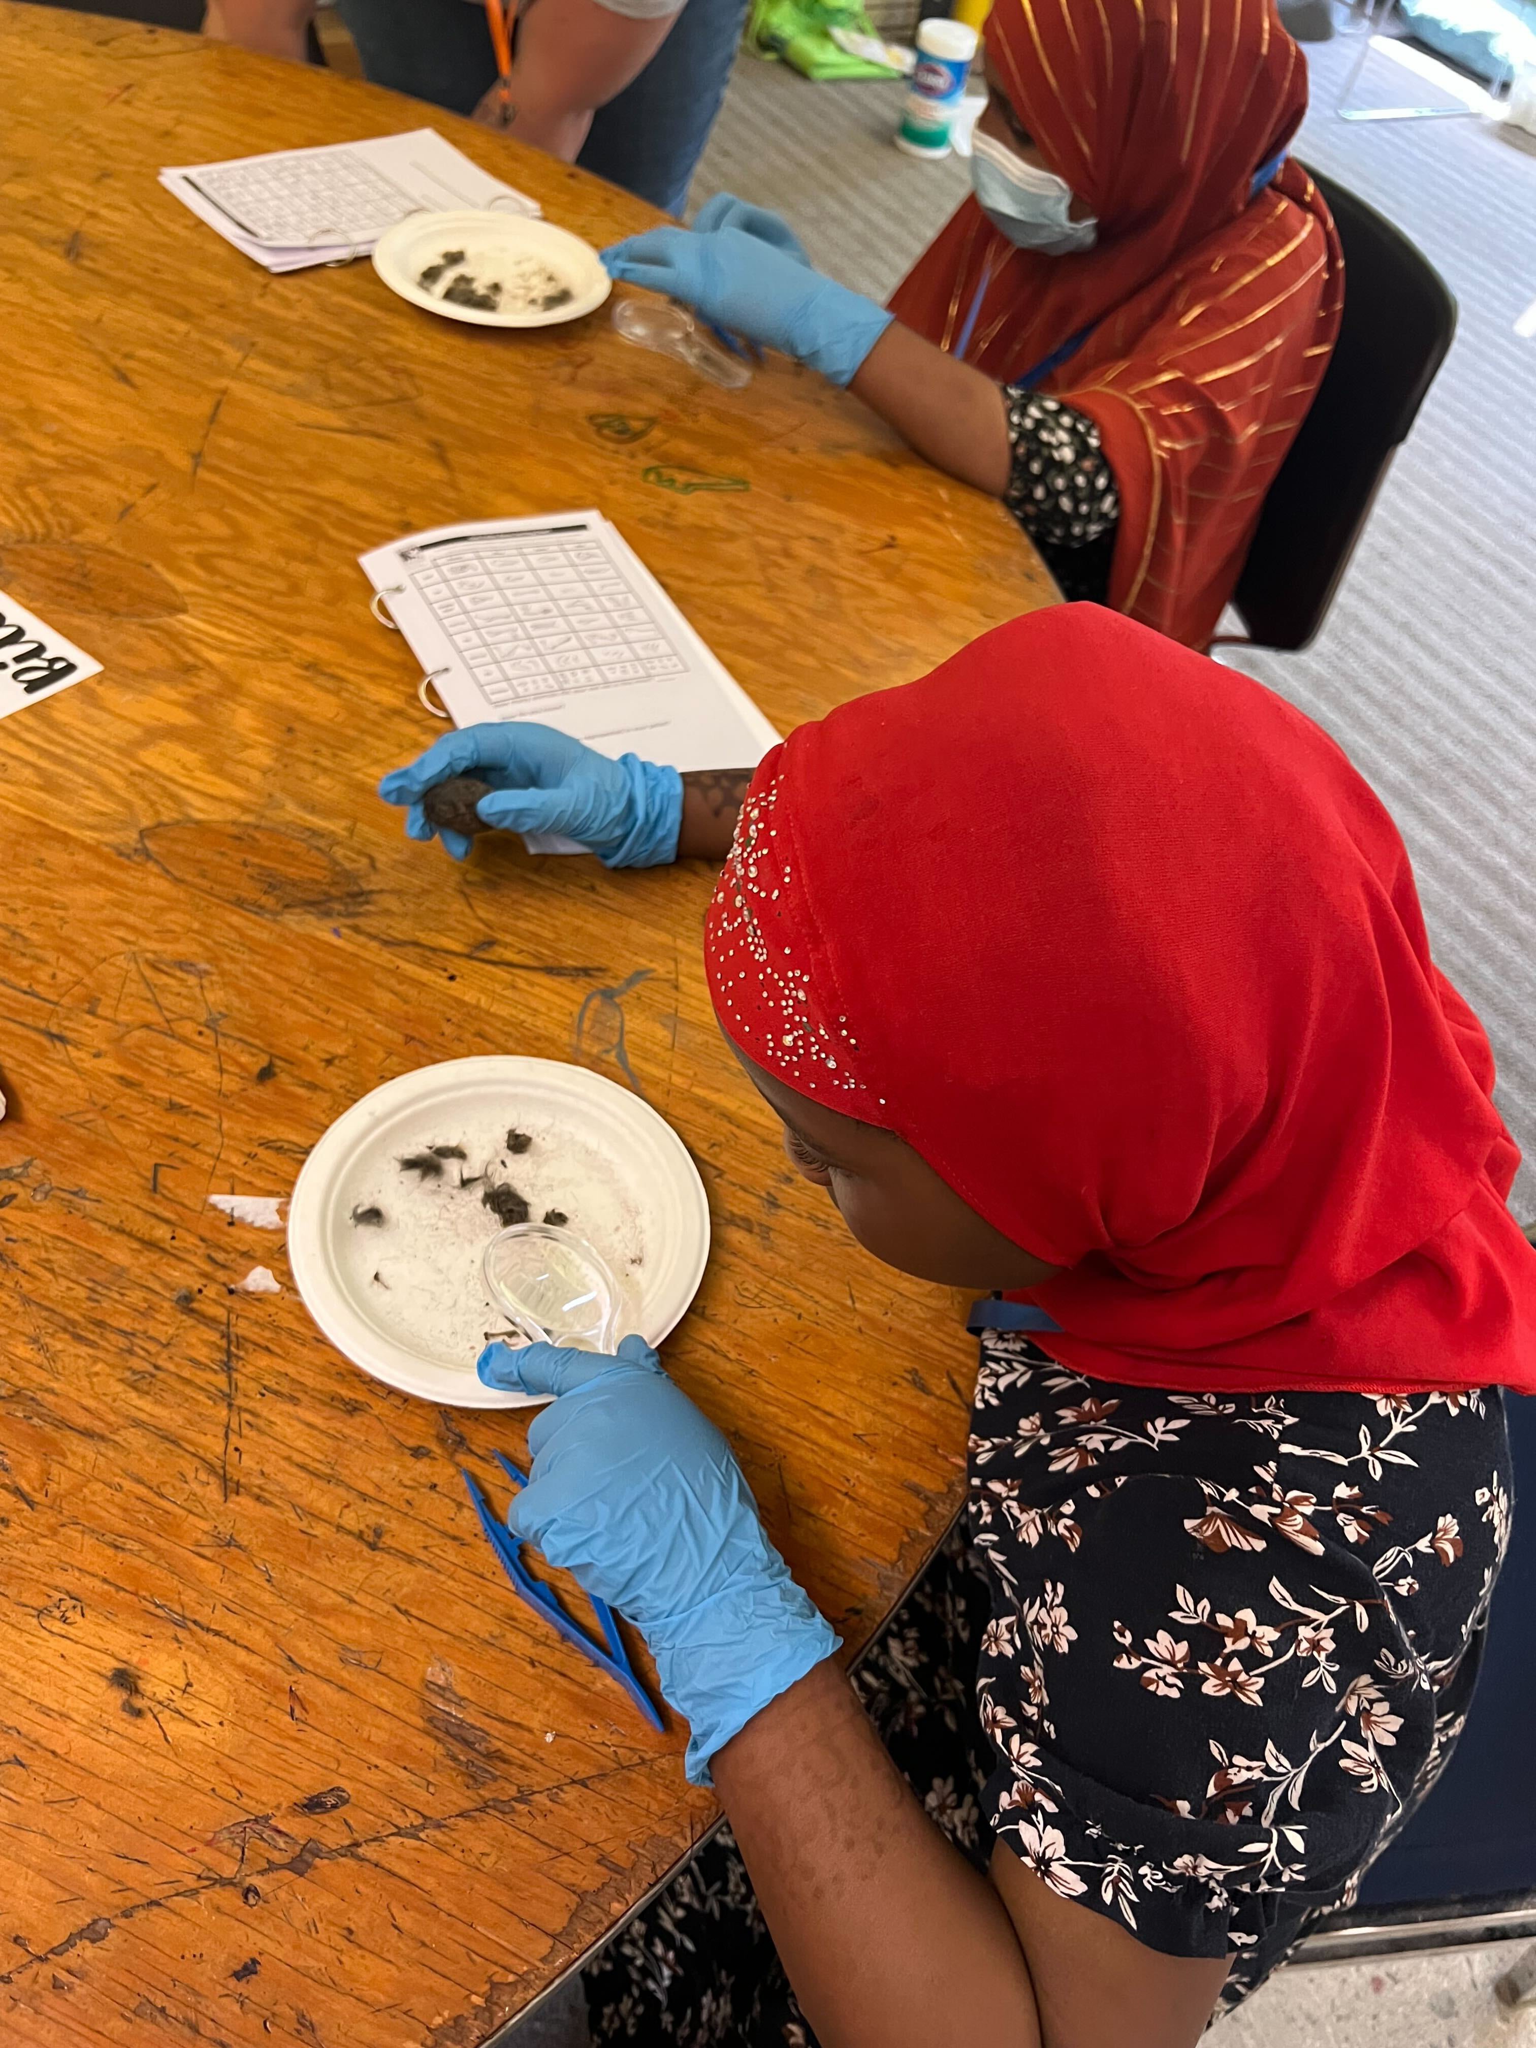
[[[1067,1364],[1536,1391],[1489,1042],[1391,817],[1262,684],[1069,604],[803,725],[707,967],[750,1059],[1069,1268]]]

